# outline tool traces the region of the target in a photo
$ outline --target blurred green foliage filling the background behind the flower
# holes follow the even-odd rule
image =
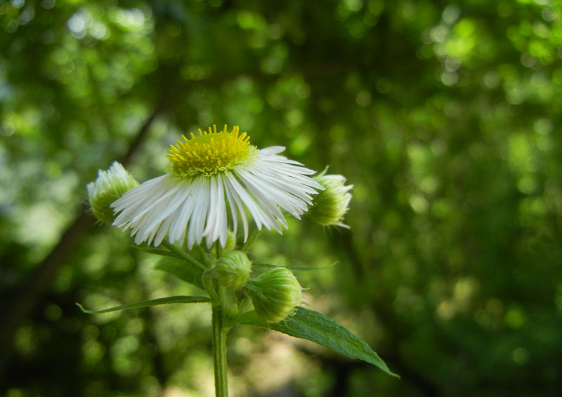
[[[339,261],[298,273],[308,304],[403,379],[240,327],[233,395],[555,396],[561,45],[559,0],[0,0],[0,328],[33,297],[1,341],[0,394],[213,393],[205,305],[74,306],[192,292],[126,234],[90,228],[26,290],[149,120],[141,181],[180,133],[228,123],[355,184],[351,231],[295,220],[254,259]]]

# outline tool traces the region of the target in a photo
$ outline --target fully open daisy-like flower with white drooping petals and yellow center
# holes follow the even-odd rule
[[[190,133],[170,146],[166,175],[144,182],[112,203],[113,223],[131,229],[135,243],[187,243],[188,249],[205,238],[226,245],[230,223],[236,234],[242,220],[248,237],[246,209],[256,227],[287,228],[282,211],[300,219],[312,204],[312,194],[324,189],[306,175],[315,173],[301,163],[277,155],[285,147],[257,149],[237,126],[228,132],[209,128]],[[228,209],[230,210],[230,219]],[[229,222],[230,221],[230,222]]]

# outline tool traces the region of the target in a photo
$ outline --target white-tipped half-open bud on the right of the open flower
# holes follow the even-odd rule
[[[340,226],[343,224],[344,215],[349,210],[349,201],[353,184],[345,185],[346,178],[342,175],[326,175],[327,168],[322,173],[313,177],[325,190],[319,191],[313,198],[313,206],[308,209],[308,216],[322,226]]]

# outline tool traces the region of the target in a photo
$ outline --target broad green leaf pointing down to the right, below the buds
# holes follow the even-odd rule
[[[266,323],[259,318],[255,311],[250,311],[238,317],[236,322],[266,327],[292,337],[308,339],[351,358],[358,358],[370,363],[388,375],[399,377],[388,370],[384,361],[368,344],[345,328],[344,325],[336,323],[332,318],[328,318],[318,311],[297,307],[294,314],[279,323]]]

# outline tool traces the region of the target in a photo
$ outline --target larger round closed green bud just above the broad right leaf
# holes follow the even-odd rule
[[[302,288],[286,267],[273,267],[247,284],[256,313],[265,321],[278,323],[301,303]]]

